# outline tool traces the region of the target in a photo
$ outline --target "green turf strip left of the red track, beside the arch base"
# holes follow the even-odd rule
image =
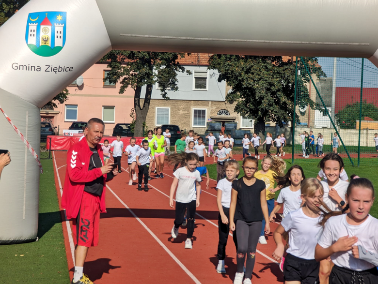
[[[70,283],[52,160],[41,160],[38,241],[0,246],[0,283]]]

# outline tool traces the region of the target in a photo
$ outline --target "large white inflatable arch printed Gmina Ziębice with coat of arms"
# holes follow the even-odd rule
[[[40,107],[113,49],[363,57],[378,66],[369,0],[31,0],[0,28],[0,105],[39,155]],[[1,115],[0,115],[1,116]],[[33,240],[39,167],[4,119],[0,243]]]

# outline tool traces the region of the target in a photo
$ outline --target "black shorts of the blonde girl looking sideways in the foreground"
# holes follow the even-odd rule
[[[284,262],[284,280],[300,281],[301,284],[319,283],[319,262],[287,254]]]

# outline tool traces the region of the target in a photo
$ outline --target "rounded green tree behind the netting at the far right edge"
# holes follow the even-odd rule
[[[361,108],[362,120],[364,120],[364,117],[378,120],[377,106],[367,103],[365,100],[362,102]],[[351,105],[347,104],[342,110],[339,110],[335,118],[340,128],[355,129],[357,120],[360,120],[360,102],[355,102]]]

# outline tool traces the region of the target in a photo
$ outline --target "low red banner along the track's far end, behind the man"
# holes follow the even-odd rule
[[[51,135],[47,136],[46,149],[50,149],[50,138],[51,138],[51,150],[68,150],[70,147],[79,142],[80,137],[77,136],[57,136]],[[127,145],[130,145],[131,137],[122,137],[121,141],[124,142],[124,149]],[[140,145],[144,137],[135,137],[137,139],[136,144]],[[83,138],[85,139],[85,138]],[[109,141],[109,144],[114,140],[117,140],[117,137],[102,137],[100,143],[104,143],[105,140]]]

